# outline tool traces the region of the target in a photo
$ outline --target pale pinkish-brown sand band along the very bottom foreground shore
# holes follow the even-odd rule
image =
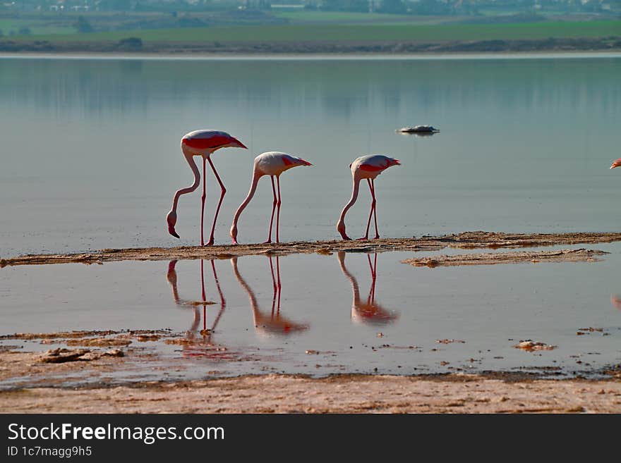
[[[620,413],[621,380],[266,375],[0,392],[8,413]]]

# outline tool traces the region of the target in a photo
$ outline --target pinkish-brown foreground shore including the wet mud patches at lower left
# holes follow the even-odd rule
[[[56,334],[59,333],[44,333],[48,337],[41,340],[42,344],[57,340]],[[113,333],[95,339],[142,337],[146,342],[147,334]],[[97,333],[88,334],[93,335]],[[5,336],[4,341],[33,342],[37,337],[41,335],[11,335]],[[0,381],[4,384],[4,390],[0,390],[1,412],[621,412],[621,365],[601,371],[603,379],[593,380],[549,379],[550,375],[545,378],[530,371],[509,371],[417,376],[343,374],[324,378],[279,374],[210,378],[207,373],[202,381],[118,381],[115,372],[132,370],[137,363],[162,371],[167,367],[140,346],[113,350],[108,350],[105,343],[102,346],[20,352],[17,346],[5,345],[0,349]],[[47,361],[59,354],[65,356],[63,362]]]

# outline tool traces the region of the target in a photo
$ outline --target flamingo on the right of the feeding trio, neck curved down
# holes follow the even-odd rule
[[[400,166],[399,159],[389,158],[388,156],[383,156],[382,154],[370,154],[368,156],[360,156],[354,162],[349,164],[349,168],[351,168],[351,176],[354,178],[354,186],[351,191],[351,199],[349,202],[345,204],[341,212],[341,216],[339,217],[339,221],[337,222],[337,230],[341,234],[344,240],[351,240],[349,236],[345,233],[345,214],[349,210],[351,206],[354,205],[356,199],[358,199],[358,190],[360,190],[360,180],[366,178],[366,181],[369,185],[369,190],[371,192],[371,197],[373,201],[371,202],[371,210],[369,212],[369,219],[366,224],[366,233],[364,237],[359,238],[360,240],[368,240],[368,230],[371,224],[371,216],[375,218],[375,240],[380,237],[378,233],[378,215],[375,212],[375,178],[380,175],[383,171],[385,171],[390,166]]]

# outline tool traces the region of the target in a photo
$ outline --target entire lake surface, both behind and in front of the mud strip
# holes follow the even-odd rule
[[[174,191],[192,181],[179,140],[199,128],[227,130],[249,148],[212,156],[228,190],[219,244],[229,242],[254,156],[268,150],[313,163],[282,175],[284,241],[337,238],[349,163],[375,153],[402,161],[376,183],[385,237],[618,231],[621,173],[608,168],[621,156],[620,82],[621,56],[0,58],[0,256],[197,244],[200,190],[181,198],[180,241],[164,218]],[[440,133],[395,132],[422,123]],[[265,240],[269,185],[260,182],[241,217],[241,242]],[[206,223],[218,196],[207,173]],[[350,235],[363,234],[369,203],[362,190]],[[402,252],[281,257],[277,317],[264,256],[204,261],[207,299],[216,302],[205,314],[183,302],[200,300],[201,261],[174,264],[174,278],[162,261],[6,267],[0,334],[170,328],[198,336],[217,321],[207,344],[249,359],[159,345],[178,367],[166,375],[183,378],[204,376],[205,362],[222,375],[524,366],[582,374],[621,359],[621,311],[611,304],[621,292],[621,246],[591,247],[611,254],[435,269],[400,263],[411,257]],[[576,335],[589,327],[602,331]],[[528,338],[558,347],[512,347]]]

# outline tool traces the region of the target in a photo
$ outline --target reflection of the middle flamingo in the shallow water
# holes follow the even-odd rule
[[[270,271],[272,272],[272,285],[274,290],[272,296],[272,310],[270,311],[270,313],[264,313],[260,310],[254,291],[251,289],[250,286],[248,286],[246,280],[244,280],[239,273],[239,268],[237,267],[237,257],[233,257],[231,259],[231,265],[233,266],[233,273],[235,274],[235,278],[237,278],[237,281],[239,281],[241,288],[243,288],[243,290],[248,293],[248,298],[250,299],[250,304],[253,310],[255,330],[259,334],[272,335],[290,335],[291,333],[306,330],[308,328],[308,325],[291,321],[280,313],[280,293],[282,285],[280,283],[279,258],[278,256],[276,256],[275,258],[276,276],[274,273],[272,256],[268,256],[268,259],[270,259]]]

